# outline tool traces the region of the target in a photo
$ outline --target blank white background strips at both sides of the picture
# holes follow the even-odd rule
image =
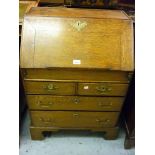
[[[18,0],[0,8],[0,155],[19,154]],[[155,154],[155,1],[136,0],[136,155]]]

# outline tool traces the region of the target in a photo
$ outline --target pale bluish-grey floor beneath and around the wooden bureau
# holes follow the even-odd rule
[[[30,139],[29,115],[23,119],[19,155],[134,155],[135,149],[124,149],[123,130],[116,140],[104,140],[101,133],[84,131],[53,133],[43,141]]]

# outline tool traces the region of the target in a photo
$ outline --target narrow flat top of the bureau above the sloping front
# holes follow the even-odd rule
[[[121,10],[98,10],[98,9],[81,9],[65,7],[37,7],[32,8],[29,16],[53,16],[53,17],[73,17],[73,18],[106,18],[127,20],[129,17]]]

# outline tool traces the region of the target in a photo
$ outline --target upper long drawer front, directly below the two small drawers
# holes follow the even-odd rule
[[[120,111],[123,97],[27,95],[31,110]]]

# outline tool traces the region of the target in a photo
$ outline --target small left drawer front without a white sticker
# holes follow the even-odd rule
[[[27,94],[74,95],[75,84],[65,82],[24,81]]]

